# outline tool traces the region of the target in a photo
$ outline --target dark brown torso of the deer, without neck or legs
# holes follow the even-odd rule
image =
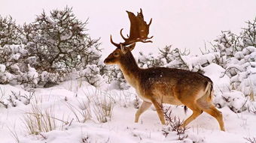
[[[190,98],[190,95],[204,90],[209,82],[212,83],[211,79],[201,73],[166,67],[144,69],[139,79],[141,94],[157,94],[174,98],[172,100]]]

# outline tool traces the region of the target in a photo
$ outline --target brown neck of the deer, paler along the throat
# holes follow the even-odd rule
[[[132,85],[133,88],[136,88],[141,69],[138,67],[131,52],[126,53],[126,56],[121,59],[119,67],[126,81]]]

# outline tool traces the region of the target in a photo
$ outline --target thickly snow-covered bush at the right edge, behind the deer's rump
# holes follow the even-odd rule
[[[219,52],[217,64],[224,67],[230,77],[231,87],[254,99],[256,94],[256,19],[247,22],[241,34],[222,31],[213,43],[214,52]]]

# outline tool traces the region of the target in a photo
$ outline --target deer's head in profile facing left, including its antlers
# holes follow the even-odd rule
[[[142,9],[140,9],[140,12],[137,14],[137,16],[130,11],[126,12],[128,13],[130,19],[130,35],[124,37],[122,34],[123,28],[120,30],[120,36],[124,40],[123,43],[114,43],[112,37],[110,36],[111,43],[117,48],[114,49],[114,51],[111,52],[111,54],[108,55],[107,58],[105,58],[105,64],[120,64],[120,61],[134,49],[134,47],[136,46],[136,42],[152,42],[151,40],[148,40],[153,37],[148,37],[149,26],[151,25],[152,19],[147,24],[147,22],[144,21]]]

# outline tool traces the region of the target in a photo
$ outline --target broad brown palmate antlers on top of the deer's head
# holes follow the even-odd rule
[[[124,42],[123,43],[114,43],[112,40],[112,37],[110,35],[110,41],[114,46],[117,46],[117,48],[120,48],[120,44],[123,46],[130,45],[132,43],[136,42],[143,42],[143,43],[148,43],[152,42],[151,39],[152,37],[148,37],[149,34],[149,26],[151,25],[152,19],[150,22],[147,24],[147,22],[144,21],[144,16],[142,13],[142,9],[140,9],[140,12],[137,14],[137,16],[130,12],[126,11],[128,13],[129,19],[130,19],[130,35],[126,38],[123,36],[122,31],[123,28],[120,30],[120,35],[123,38]]]

